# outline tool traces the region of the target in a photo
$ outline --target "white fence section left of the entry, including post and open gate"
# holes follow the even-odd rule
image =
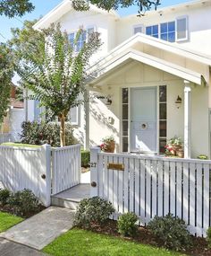
[[[0,146],[0,181],[12,191],[32,190],[48,207],[52,191],[58,193],[79,183],[80,146]]]

